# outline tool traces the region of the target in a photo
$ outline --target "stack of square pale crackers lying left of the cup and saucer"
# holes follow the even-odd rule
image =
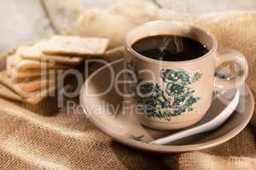
[[[54,36],[15,48],[0,72],[0,96],[36,105],[63,85],[63,72],[105,54],[108,39]]]

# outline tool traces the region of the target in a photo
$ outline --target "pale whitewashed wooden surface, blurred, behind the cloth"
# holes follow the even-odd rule
[[[118,0],[2,0],[0,51],[73,26],[81,10],[108,7]],[[132,1],[132,0],[130,0]],[[134,0],[137,1],[137,0]],[[148,0],[149,1],[149,0]],[[255,0],[150,0],[160,8],[186,14],[255,10]]]

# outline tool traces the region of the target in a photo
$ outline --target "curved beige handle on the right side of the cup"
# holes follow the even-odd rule
[[[242,74],[232,80],[224,80],[219,77],[214,77],[214,91],[238,88],[245,82],[248,75],[248,64],[245,56],[234,49],[225,49],[218,52],[216,59],[217,66],[229,61],[236,62],[241,67]]]

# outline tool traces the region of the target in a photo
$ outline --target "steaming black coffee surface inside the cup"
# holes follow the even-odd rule
[[[207,54],[207,48],[189,37],[160,35],[144,37],[132,44],[131,48],[150,59],[184,61]]]

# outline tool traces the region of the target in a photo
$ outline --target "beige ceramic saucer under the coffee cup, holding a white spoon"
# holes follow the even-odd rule
[[[90,75],[87,81],[84,82],[80,93],[80,104],[83,106],[84,112],[90,121],[120,143],[141,150],[158,152],[203,150],[222,144],[236,136],[246,127],[253,116],[253,94],[245,85],[244,93],[241,93],[236,111],[218,129],[166,145],[148,144],[153,139],[158,139],[174,132],[157,131],[143,127],[132,115],[132,111],[130,113],[129,111],[124,111],[124,102],[120,95],[123,87],[122,82],[119,80],[123,68],[123,59],[105,65]],[[117,81],[119,82],[116,83]],[[211,108],[207,111],[207,114],[223,111],[234,94],[234,90],[218,94],[218,97],[212,100]]]

